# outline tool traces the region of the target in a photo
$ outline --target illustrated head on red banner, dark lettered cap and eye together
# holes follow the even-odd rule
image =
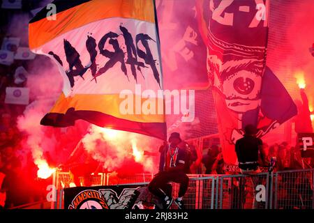
[[[243,114],[260,105],[267,40],[266,1],[211,0],[207,37],[209,80],[227,108]]]

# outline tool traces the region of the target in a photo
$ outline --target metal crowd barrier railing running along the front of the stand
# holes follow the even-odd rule
[[[184,203],[188,209],[314,209],[314,169],[278,171],[255,175],[192,174]],[[63,187],[69,185],[65,172],[55,174],[57,202],[52,208],[63,208]],[[127,178],[111,174],[91,176],[94,185],[147,185],[154,174],[135,174]],[[63,182],[63,183],[61,183]],[[179,185],[172,183],[172,196]],[[176,206],[172,206],[176,208]]]

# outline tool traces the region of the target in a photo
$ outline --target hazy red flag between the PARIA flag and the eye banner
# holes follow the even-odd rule
[[[165,89],[208,89],[195,0],[156,0]]]

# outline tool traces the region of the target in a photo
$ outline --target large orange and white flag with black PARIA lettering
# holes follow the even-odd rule
[[[41,123],[66,127],[84,119],[165,139],[154,1],[53,3],[56,20],[43,8],[29,23],[30,49],[54,59],[64,80]]]

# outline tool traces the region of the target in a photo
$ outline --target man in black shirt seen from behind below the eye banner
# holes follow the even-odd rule
[[[260,173],[259,153],[263,161],[265,157],[262,149],[262,139],[255,137],[257,130],[254,125],[246,125],[244,131],[244,137],[238,139],[235,145],[241,174]]]

